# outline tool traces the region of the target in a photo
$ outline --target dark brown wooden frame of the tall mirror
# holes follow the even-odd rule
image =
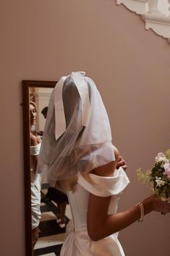
[[[24,186],[25,186],[25,256],[32,256],[31,194],[30,194],[30,109],[29,88],[54,88],[55,81],[22,80],[22,118],[24,148]]]

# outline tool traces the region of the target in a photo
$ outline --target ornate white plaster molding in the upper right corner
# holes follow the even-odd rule
[[[168,38],[170,44],[170,0],[116,0],[116,4],[124,4],[130,11],[141,15],[145,29]]]

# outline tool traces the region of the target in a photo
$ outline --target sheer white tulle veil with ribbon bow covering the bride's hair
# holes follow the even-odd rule
[[[82,72],[62,77],[48,104],[37,172],[55,186],[114,160],[109,118],[95,83]]]

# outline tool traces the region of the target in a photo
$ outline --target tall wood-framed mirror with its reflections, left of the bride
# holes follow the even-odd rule
[[[26,255],[59,255],[71,218],[67,196],[35,174],[48,102],[56,82],[22,81]]]

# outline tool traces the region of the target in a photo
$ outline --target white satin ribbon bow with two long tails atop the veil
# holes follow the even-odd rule
[[[88,116],[90,111],[90,100],[88,94],[88,85],[85,83],[83,76],[85,72],[72,72],[70,77],[74,80],[77,90],[80,94],[82,102],[82,125],[86,126],[88,123]],[[62,99],[62,91],[66,76],[63,76],[56,87],[54,88],[54,107],[55,107],[55,136],[56,140],[66,131],[66,120],[64,115],[64,104]]]

